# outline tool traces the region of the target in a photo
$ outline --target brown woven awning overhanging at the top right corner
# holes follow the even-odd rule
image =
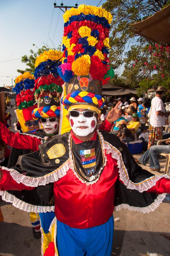
[[[146,20],[131,24],[135,34],[152,42],[170,44],[170,4]]]

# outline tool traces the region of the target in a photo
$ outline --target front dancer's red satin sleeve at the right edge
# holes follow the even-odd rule
[[[170,179],[161,178],[156,185],[148,189],[146,192],[154,192],[156,194],[170,193]]]

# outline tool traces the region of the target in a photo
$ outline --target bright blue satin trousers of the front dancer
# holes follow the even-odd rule
[[[113,216],[93,228],[71,228],[57,220],[57,247],[59,256],[111,256]]]

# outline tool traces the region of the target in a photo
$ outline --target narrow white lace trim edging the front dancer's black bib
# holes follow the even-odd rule
[[[102,144],[102,150],[103,150],[103,156],[104,156],[104,165],[100,168],[99,172],[98,172],[98,177],[91,181],[91,182],[87,182],[87,181],[84,181],[83,179],[81,179],[78,174],[76,173],[75,171],[75,167],[74,167],[74,162],[73,162],[73,157],[72,157],[72,152],[71,152],[71,133],[69,134],[69,138],[68,138],[68,143],[69,143],[69,159],[70,159],[70,164],[71,164],[71,167],[70,169],[73,170],[73,173],[75,174],[75,176],[82,182],[82,183],[86,183],[86,185],[93,185],[94,183],[96,183],[99,178],[100,178],[100,173],[102,171],[102,169],[104,168],[104,166],[106,165],[107,163],[107,157],[105,156],[105,144],[104,144],[104,139],[103,139],[103,136],[101,135],[101,133],[99,133],[97,131],[97,133],[99,134],[99,137],[101,139],[101,144]],[[93,176],[92,176],[93,177]]]

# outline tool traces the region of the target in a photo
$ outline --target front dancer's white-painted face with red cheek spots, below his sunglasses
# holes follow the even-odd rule
[[[84,137],[92,133],[96,127],[97,120],[95,115],[93,117],[84,117],[81,113],[78,117],[70,116],[70,125],[73,132]]]

